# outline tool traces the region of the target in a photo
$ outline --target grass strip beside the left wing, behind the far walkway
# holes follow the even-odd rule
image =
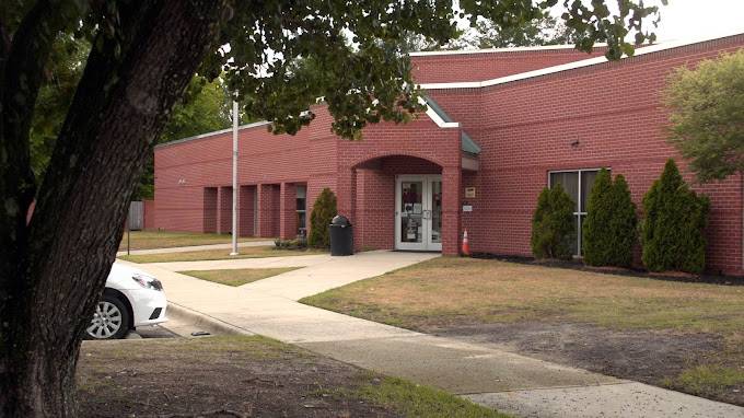
[[[209,244],[230,244],[232,242],[229,234],[205,234],[198,232],[176,232],[176,231],[131,231],[129,239],[130,249],[152,249],[172,248],[176,246],[209,245]],[[248,241],[269,241],[271,239],[258,239],[241,236],[239,242]],[[119,251],[127,249],[127,233],[124,233]]]

